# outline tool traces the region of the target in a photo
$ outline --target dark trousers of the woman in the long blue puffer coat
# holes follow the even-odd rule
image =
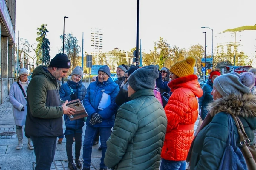
[[[70,135],[65,135],[66,137],[66,152],[68,156],[68,161],[73,161],[72,155],[72,145],[73,145],[73,137],[75,136],[75,158],[79,158],[80,150],[82,147],[82,133],[75,133]]]

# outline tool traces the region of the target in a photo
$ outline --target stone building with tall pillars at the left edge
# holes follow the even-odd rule
[[[0,102],[3,103],[15,77],[16,0],[0,2]]]

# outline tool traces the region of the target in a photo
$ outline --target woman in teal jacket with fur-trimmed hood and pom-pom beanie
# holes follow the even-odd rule
[[[256,129],[256,96],[250,92],[255,83],[252,73],[239,75],[235,72],[220,75],[213,81],[213,102],[209,104],[209,114],[194,138],[189,157],[190,169],[220,169],[225,148],[229,145],[228,138],[234,129],[235,146],[242,148],[240,137],[233,117],[242,122],[251,146],[253,130]],[[231,116],[231,117],[230,117]],[[229,123],[230,122],[230,123]],[[232,128],[233,126],[233,128]],[[248,142],[246,140],[246,142]],[[238,149],[240,150],[240,149]],[[237,159],[247,169],[243,157]],[[226,169],[233,169],[234,166]]]

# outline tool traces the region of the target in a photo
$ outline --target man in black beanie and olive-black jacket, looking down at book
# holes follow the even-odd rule
[[[62,115],[74,114],[74,109],[61,105],[59,80],[70,69],[66,54],[57,54],[48,67],[39,66],[33,71],[27,87],[27,117],[25,133],[34,144],[36,170],[50,169],[54,159],[57,136],[62,136]]]

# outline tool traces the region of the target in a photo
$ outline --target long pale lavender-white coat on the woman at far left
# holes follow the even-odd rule
[[[29,84],[29,81],[27,81],[27,84]],[[13,117],[15,125],[25,125],[27,116],[27,100],[22,94],[22,91],[17,82],[14,82],[10,88],[9,100],[10,103],[13,105]],[[21,111],[23,107],[25,110]]]

